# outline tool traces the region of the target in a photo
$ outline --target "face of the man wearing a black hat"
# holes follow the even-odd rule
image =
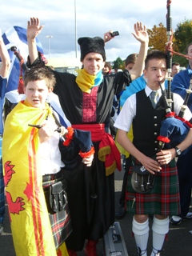
[[[103,62],[102,54],[89,53],[86,54],[82,64],[88,74],[95,75],[103,69],[105,62]]]

